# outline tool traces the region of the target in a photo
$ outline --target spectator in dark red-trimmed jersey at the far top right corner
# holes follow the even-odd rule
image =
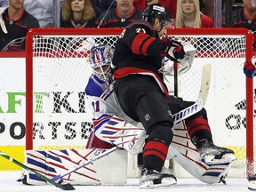
[[[251,0],[243,0],[244,7],[232,12],[232,28],[248,28],[256,36],[256,6],[253,7]],[[223,24],[223,27],[226,23]],[[253,50],[256,51],[256,37],[254,37]]]

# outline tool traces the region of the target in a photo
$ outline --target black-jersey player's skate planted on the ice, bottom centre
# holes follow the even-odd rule
[[[169,173],[156,172],[156,170],[142,169],[140,188],[158,188],[176,184],[176,177]]]

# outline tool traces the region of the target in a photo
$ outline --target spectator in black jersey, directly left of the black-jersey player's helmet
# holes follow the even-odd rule
[[[142,18],[142,11],[133,6],[133,0],[116,0],[116,9],[103,12],[95,22],[96,28],[124,28],[133,20]]]

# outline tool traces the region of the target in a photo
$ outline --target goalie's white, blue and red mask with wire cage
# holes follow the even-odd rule
[[[92,46],[89,60],[92,64],[92,73],[101,81],[108,82],[111,76],[111,64],[114,50],[108,44]]]

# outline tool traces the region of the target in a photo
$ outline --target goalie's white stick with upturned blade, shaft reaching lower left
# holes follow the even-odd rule
[[[200,89],[200,92],[199,92],[199,95],[198,95],[198,99],[196,100],[196,102],[192,106],[189,106],[188,108],[184,108],[180,112],[172,115],[174,124],[179,123],[180,121],[188,118],[189,116],[193,116],[198,111],[200,111],[202,108],[204,108],[204,104],[206,102],[208,92],[209,92],[210,80],[211,80],[211,64],[206,64],[206,65],[203,66],[202,79],[201,79],[201,89]],[[116,147],[109,148],[109,149],[106,149],[106,150],[105,149],[100,149],[101,153],[99,153],[99,152],[95,153],[95,156],[93,156],[91,159],[86,160],[86,161],[76,165],[74,168],[69,169],[67,172],[63,172],[62,174],[56,175],[51,180],[52,181],[59,180],[58,183],[62,183],[63,180],[61,180],[61,178],[67,176],[68,174],[70,174],[72,172],[76,172],[77,170],[83,168],[87,164],[91,164],[92,162],[100,159],[103,156],[107,156],[108,154],[116,151],[116,149],[118,149],[118,148],[120,148],[120,147],[116,146]]]

